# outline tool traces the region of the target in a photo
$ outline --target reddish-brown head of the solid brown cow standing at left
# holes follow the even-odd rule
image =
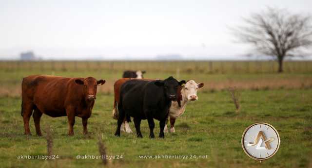
[[[84,79],[76,79],[76,84],[83,85],[83,95],[86,101],[93,101],[97,99],[97,87],[98,85],[105,84],[105,80],[97,81],[93,77]]]

